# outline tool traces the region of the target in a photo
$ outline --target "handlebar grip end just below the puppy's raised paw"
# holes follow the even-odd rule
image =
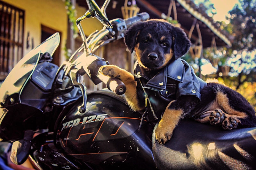
[[[109,90],[118,95],[122,95],[126,92],[126,86],[118,78],[109,78],[106,85]]]

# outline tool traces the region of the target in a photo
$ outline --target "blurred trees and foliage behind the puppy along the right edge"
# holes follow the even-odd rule
[[[194,2],[204,4],[206,8],[214,7],[209,5],[209,0],[194,0]],[[256,0],[238,0],[238,2],[229,11],[230,15],[226,21],[217,22],[220,29],[230,34],[228,38],[232,42],[232,47],[204,49],[204,58],[212,63],[217,72],[206,75],[203,79],[218,78],[220,82],[237,89],[256,107]],[[200,64],[197,61],[198,59],[190,60],[189,63],[195,68],[195,64]],[[222,73],[224,67],[230,68],[227,75]]]

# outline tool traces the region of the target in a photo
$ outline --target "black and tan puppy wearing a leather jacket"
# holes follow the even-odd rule
[[[223,129],[256,126],[254,109],[238,92],[217,83],[205,83],[180,57],[191,46],[182,29],[164,20],[138,22],[125,34],[125,44],[135,51],[134,75],[117,66],[100,72],[117,77],[127,87],[125,97],[133,110],[145,110],[159,121],[156,139],[164,144],[181,118],[221,125]]]

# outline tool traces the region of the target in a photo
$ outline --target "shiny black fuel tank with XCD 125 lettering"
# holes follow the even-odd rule
[[[96,169],[154,169],[154,126],[144,120],[138,131],[141,114],[119,98],[112,92],[96,92],[87,96],[84,114],[78,111],[81,98],[71,109],[64,109],[56,142],[66,154]]]

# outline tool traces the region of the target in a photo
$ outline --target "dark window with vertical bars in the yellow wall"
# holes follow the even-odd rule
[[[23,56],[25,11],[0,1],[0,80]]]

